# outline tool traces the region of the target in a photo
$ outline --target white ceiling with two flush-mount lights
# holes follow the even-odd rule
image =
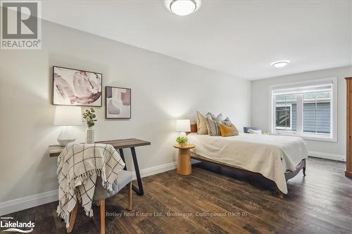
[[[163,0],[44,1],[42,17],[244,79],[352,64],[351,1],[203,0],[187,16]]]

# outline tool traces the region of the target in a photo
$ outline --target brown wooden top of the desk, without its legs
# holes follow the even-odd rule
[[[113,145],[115,149],[123,149],[123,148],[132,148],[143,145],[151,145],[149,141],[143,141],[136,138],[129,139],[120,139],[120,140],[111,140],[111,141],[96,141],[96,144],[108,144]],[[61,151],[63,151],[63,146],[60,145],[49,145],[49,156],[50,157],[58,157]]]

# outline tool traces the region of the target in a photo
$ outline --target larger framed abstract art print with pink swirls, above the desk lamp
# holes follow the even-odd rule
[[[53,104],[101,107],[103,74],[53,67]]]

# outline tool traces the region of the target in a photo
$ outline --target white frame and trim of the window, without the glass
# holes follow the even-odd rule
[[[272,95],[272,91],[275,89],[285,89],[285,87],[289,86],[310,86],[314,84],[321,84],[324,82],[332,82],[332,96],[331,96],[331,112],[330,112],[330,135],[319,135],[319,134],[305,134],[303,133],[303,96],[297,97],[297,123],[296,123],[296,131],[284,131],[276,129],[276,108],[275,108],[275,96]],[[306,82],[294,82],[287,84],[277,84],[269,87],[269,97],[270,101],[270,133],[273,135],[285,135],[285,136],[300,136],[303,139],[311,140],[311,141],[330,141],[337,142],[337,77],[325,78],[325,79],[313,79]],[[298,108],[301,106],[302,108]],[[292,126],[292,124],[291,124]]]

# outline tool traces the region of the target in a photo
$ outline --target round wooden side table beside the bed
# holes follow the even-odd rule
[[[196,147],[196,145],[187,144],[180,146],[175,144],[174,147],[178,149],[177,174],[183,176],[191,174],[191,148]]]

